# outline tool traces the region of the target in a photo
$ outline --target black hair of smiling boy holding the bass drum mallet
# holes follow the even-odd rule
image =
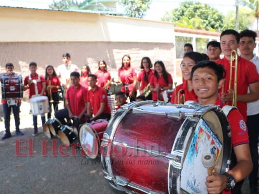
[[[226,75],[226,71],[223,65],[217,64],[214,61],[201,61],[192,67],[190,73],[190,80],[192,81],[193,73],[196,69],[205,67],[208,67],[214,71],[218,78],[218,82],[222,80]]]

